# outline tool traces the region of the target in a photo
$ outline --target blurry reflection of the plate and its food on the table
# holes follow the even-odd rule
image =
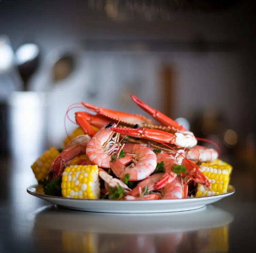
[[[211,205],[161,215],[87,213],[48,206],[28,219],[34,223],[33,240],[41,249],[51,245],[50,252],[210,253],[228,252],[234,217]]]

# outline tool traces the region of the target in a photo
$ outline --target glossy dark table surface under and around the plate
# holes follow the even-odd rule
[[[234,162],[235,194],[206,208],[131,215],[61,209],[28,194],[27,187],[36,183],[32,162],[0,161],[0,253],[253,252],[255,166]],[[123,223],[115,222],[117,215]],[[91,218],[95,226],[86,226]]]

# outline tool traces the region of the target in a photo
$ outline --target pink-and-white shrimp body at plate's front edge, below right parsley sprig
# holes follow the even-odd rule
[[[177,179],[167,184],[163,190],[162,199],[174,199],[183,197],[183,187]]]

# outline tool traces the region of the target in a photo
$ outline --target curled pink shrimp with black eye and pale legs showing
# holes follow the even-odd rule
[[[115,123],[109,123],[102,127],[91,138],[86,147],[86,154],[91,162],[99,167],[109,169],[112,155],[120,148],[119,134],[110,130],[111,126],[116,126]],[[114,136],[115,134],[115,136]],[[132,161],[131,155],[125,155],[120,159],[122,164],[127,164]]]

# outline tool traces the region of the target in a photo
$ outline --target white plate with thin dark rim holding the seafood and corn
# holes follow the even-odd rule
[[[75,199],[45,195],[37,191],[37,185],[27,188],[29,194],[44,199],[49,203],[79,211],[103,212],[103,213],[165,213],[179,212],[202,208],[205,205],[219,201],[220,199],[235,193],[231,185],[225,194],[183,198],[183,199],[157,199],[143,201],[124,201],[110,199]]]

